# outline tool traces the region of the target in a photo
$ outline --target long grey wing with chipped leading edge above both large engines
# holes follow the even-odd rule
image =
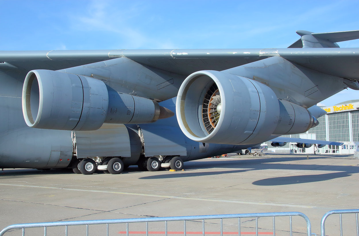
[[[223,71],[272,56],[332,76],[359,80],[359,48],[0,51],[0,69],[59,70],[125,57],[187,76],[201,70]]]

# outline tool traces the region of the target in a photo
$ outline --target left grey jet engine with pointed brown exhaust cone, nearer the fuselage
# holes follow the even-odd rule
[[[118,93],[101,80],[50,70],[27,74],[22,106],[28,126],[52,130],[97,130],[103,123],[150,123],[174,114],[156,101]]]

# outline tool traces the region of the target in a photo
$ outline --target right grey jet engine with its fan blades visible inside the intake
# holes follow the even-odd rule
[[[318,124],[307,109],[279,100],[263,83],[219,71],[188,76],[178,91],[176,113],[188,138],[219,144],[257,144]]]

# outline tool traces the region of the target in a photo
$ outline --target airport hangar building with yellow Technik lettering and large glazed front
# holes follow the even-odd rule
[[[359,100],[350,100],[334,106],[323,106],[327,114],[318,119],[319,124],[306,133],[283,135],[282,137],[344,142],[342,146],[326,145],[324,148],[297,148],[296,143],[283,147],[272,147],[266,142],[268,150],[276,153],[354,154],[359,151]]]

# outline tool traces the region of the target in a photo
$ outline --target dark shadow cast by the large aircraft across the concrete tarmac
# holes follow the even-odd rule
[[[300,176],[282,176],[267,178],[253,182],[253,185],[262,186],[275,186],[275,185],[290,185],[296,183],[308,183],[331,180],[335,178],[347,177],[353,173],[359,173],[358,166],[344,166],[344,165],[318,165],[318,164],[290,164],[286,162],[293,161],[293,158],[251,158],[251,159],[221,159],[221,160],[201,160],[185,162],[185,172],[156,172],[158,174],[139,177],[142,180],[153,179],[169,179],[169,178],[186,178],[194,176],[215,176],[218,174],[231,174],[241,173],[254,170],[264,169],[283,169],[283,170],[321,170],[321,171],[335,171],[334,173],[325,174],[312,174],[312,175],[300,175]],[[303,159],[304,160],[304,159]],[[191,170],[201,169],[215,169],[215,168],[230,168],[231,170],[221,171],[205,171],[205,172],[190,172]],[[138,173],[136,166],[130,166],[122,174]],[[46,174],[69,174],[73,173],[70,169],[51,169],[47,171],[37,169],[6,169],[4,172],[0,171],[0,179],[4,177],[15,177],[23,175],[46,175]],[[150,173],[150,172],[145,172]],[[154,173],[154,172],[151,172]],[[104,174],[99,171],[95,173]],[[121,175],[122,175],[121,174]]]

